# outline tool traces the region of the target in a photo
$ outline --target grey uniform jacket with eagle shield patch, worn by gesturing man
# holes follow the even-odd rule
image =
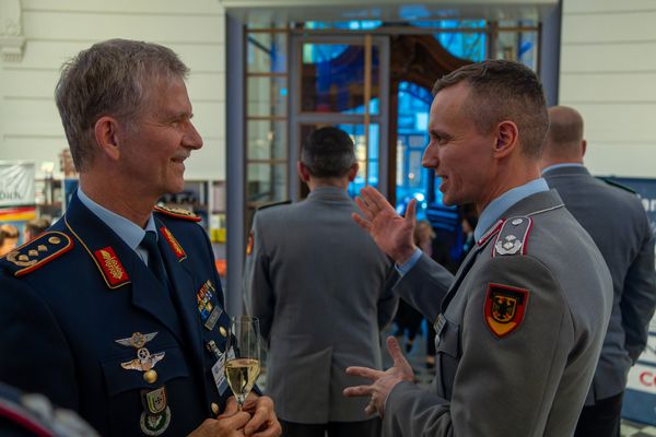
[[[397,285],[426,311],[442,300],[437,374],[431,391],[394,388],[385,436],[574,433],[610,317],[610,274],[555,191],[529,196],[501,218],[446,296],[434,286],[446,272],[425,256]]]

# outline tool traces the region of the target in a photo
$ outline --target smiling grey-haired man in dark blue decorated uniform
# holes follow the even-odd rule
[[[183,190],[202,146],[187,72],[171,49],[122,39],[65,66],[56,101],[80,188],[48,232],[0,260],[0,380],[103,436],[276,436],[269,398],[232,415],[229,318],[199,218],[153,209]]]

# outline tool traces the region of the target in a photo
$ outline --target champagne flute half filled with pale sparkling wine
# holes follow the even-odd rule
[[[225,378],[242,411],[260,371],[259,319],[235,316],[227,336]]]

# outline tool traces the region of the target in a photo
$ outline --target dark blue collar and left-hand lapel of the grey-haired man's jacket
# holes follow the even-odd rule
[[[150,273],[148,267],[141,261],[137,253],[130,249],[114,231],[102,220],[93,214],[80,202],[77,194],[73,196],[70,206],[66,212],[66,225],[97,268],[97,274],[105,281],[107,288],[105,293],[130,293],[132,292],[132,305],[142,309],[159,320],[179,339],[179,322],[177,315],[168,297],[168,293],[159,281]],[[103,272],[102,264],[94,256],[98,250],[112,248],[116,260],[125,270],[127,280],[116,286],[112,284],[112,277]],[[139,330],[139,327],[134,327]]]

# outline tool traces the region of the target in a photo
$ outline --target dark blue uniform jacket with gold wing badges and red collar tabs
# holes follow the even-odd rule
[[[213,340],[223,351],[229,327],[209,239],[197,223],[154,215],[171,291],[77,196],[49,232],[0,260],[0,380],[78,411],[103,436],[143,435],[141,390],[165,387],[165,436],[187,435],[230,395],[206,350]],[[164,353],[154,383],[124,366],[138,357],[136,332],[156,333],[142,347]]]

